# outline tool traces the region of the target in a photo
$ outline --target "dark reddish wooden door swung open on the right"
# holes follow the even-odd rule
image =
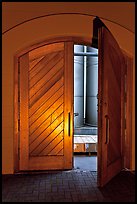
[[[109,30],[100,28],[98,38],[98,186],[102,187],[123,168],[125,61]]]

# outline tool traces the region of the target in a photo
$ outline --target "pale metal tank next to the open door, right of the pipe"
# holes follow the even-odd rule
[[[87,52],[98,53],[98,49],[87,47]],[[87,56],[85,122],[91,126],[97,126],[97,93],[98,93],[98,57]]]

